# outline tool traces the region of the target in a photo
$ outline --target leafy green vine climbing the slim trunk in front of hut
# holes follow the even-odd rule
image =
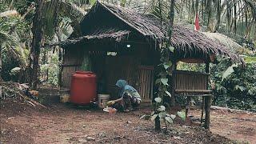
[[[170,61],[170,54],[174,53],[174,47],[170,46],[169,43],[163,43],[161,46],[161,64],[158,65],[159,74],[158,79],[156,80],[156,85],[158,86],[158,97],[154,98],[154,111],[151,114],[151,120],[155,122],[155,130],[161,130],[161,123],[165,124],[167,130],[167,126],[174,122],[174,118],[176,115],[167,114],[166,106],[167,103],[164,103],[164,97],[172,97],[170,92],[168,91],[168,76],[172,75],[171,71],[173,68],[173,62]],[[172,99],[173,101],[173,99]],[[168,105],[167,105],[168,106]],[[179,117],[185,119],[185,114],[183,112],[177,113]]]

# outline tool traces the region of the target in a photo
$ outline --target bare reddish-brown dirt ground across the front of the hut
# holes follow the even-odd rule
[[[212,133],[175,123],[164,134],[154,131],[154,122],[139,119],[150,114],[149,108],[107,114],[55,101],[47,106],[45,110],[2,101],[0,143],[256,143],[256,114],[213,110]]]

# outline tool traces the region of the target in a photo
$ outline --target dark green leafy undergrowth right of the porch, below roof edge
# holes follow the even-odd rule
[[[256,63],[247,63],[244,70],[230,65],[230,62],[222,60],[212,68],[214,104],[256,111]]]

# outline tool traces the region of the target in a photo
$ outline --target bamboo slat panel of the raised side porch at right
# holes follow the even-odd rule
[[[174,74],[174,87],[177,92],[184,90],[186,92],[203,92],[203,90],[207,90],[209,74],[183,70],[176,70]]]

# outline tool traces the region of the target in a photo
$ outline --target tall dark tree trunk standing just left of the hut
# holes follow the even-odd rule
[[[38,86],[38,71],[39,71],[39,55],[42,45],[42,7],[44,0],[36,1],[36,9],[33,18],[33,39],[32,46],[30,50],[30,86],[34,90]]]

